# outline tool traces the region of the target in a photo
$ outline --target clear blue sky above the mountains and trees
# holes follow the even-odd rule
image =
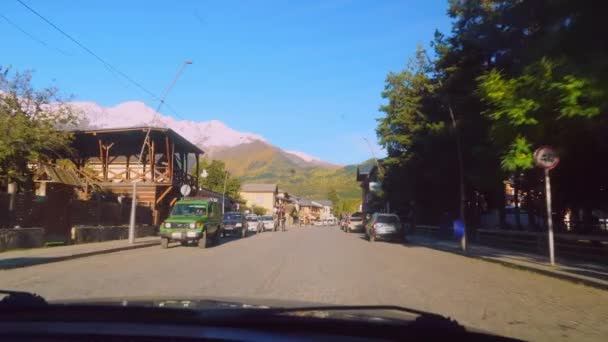
[[[24,2],[158,96],[192,60],[164,114],[217,119],[341,164],[371,157],[362,137],[377,140],[386,74],[450,29],[446,0]],[[1,65],[79,101],[156,108],[17,1],[0,14],[27,32],[0,17]]]

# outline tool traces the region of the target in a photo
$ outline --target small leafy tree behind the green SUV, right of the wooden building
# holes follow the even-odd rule
[[[207,177],[199,177],[199,186],[202,188],[223,193],[224,181],[226,182],[226,196],[232,198],[240,198],[241,181],[238,178],[230,176],[226,170],[226,165],[221,160],[209,161],[205,158],[200,160],[200,170],[207,171]]]

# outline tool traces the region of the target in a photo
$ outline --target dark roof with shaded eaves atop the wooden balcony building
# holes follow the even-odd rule
[[[175,143],[175,152],[205,153],[198,146],[182,137],[174,130],[164,127],[129,127],[73,131],[71,147],[80,157],[99,157],[99,141],[114,143],[112,155],[139,155],[146,134],[150,130],[150,140],[156,151],[165,151],[167,141]]]

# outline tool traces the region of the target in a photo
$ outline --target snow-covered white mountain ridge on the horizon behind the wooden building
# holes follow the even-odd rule
[[[155,113],[154,109],[143,102],[130,101],[113,107],[103,107],[94,102],[73,102],[72,104],[82,112],[81,128],[83,129],[167,127],[208,152],[256,141],[269,144],[261,135],[234,130],[218,120],[203,122],[176,120],[170,116]],[[331,165],[304,152],[281,151],[299,164]]]

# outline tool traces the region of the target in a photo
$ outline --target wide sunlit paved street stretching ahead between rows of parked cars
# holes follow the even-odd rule
[[[608,291],[336,227],[149,247],[0,271],[0,288],[47,299],[219,296],[396,304],[531,340],[605,340]]]

